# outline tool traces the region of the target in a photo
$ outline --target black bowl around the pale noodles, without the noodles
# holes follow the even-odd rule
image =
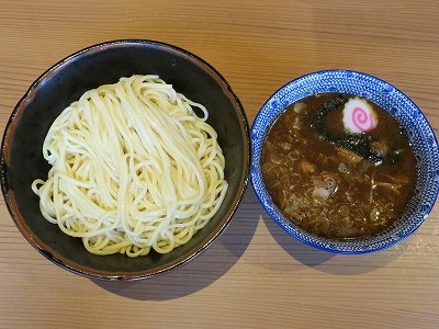
[[[54,120],[87,90],[134,73],[157,73],[189,99],[204,104],[226,159],[229,184],[218,213],[184,246],[167,254],[130,259],[86,251],[48,223],[40,212],[31,183],[46,179],[49,166],[43,140]],[[117,41],[83,49],[43,73],[15,106],[1,149],[2,192],[18,228],[50,261],[78,274],[100,279],[143,279],[172,270],[204,250],[224,230],[243,197],[249,168],[248,123],[243,106],[224,78],[199,57],[149,41]]]

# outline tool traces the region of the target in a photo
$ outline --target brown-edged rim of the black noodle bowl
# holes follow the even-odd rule
[[[32,97],[33,91],[38,87],[40,83],[45,81],[45,79],[50,77],[50,73],[56,71],[58,68],[60,68],[64,65],[68,65],[70,61],[74,59],[91,53],[91,52],[100,52],[104,49],[111,49],[111,48],[117,48],[119,46],[145,46],[145,47],[160,47],[166,49],[167,52],[173,52],[178,54],[178,56],[182,56],[185,58],[189,58],[193,60],[198,67],[200,67],[202,70],[210,71],[210,75],[214,76],[217,78],[217,81],[221,82],[221,88],[224,90],[225,94],[230,99],[230,102],[234,104],[234,112],[237,115],[237,118],[240,123],[241,126],[241,135],[243,135],[243,143],[244,143],[244,152],[243,152],[243,168],[239,168],[239,170],[243,171],[243,177],[240,181],[238,182],[238,189],[236,195],[232,198],[230,201],[230,211],[226,213],[224,219],[222,219],[218,223],[218,226],[215,227],[211,234],[206,236],[203,240],[200,241],[199,245],[196,245],[193,250],[189,250],[187,254],[183,254],[182,257],[177,258],[173,260],[171,263],[161,265],[156,270],[156,268],[149,269],[149,270],[142,270],[142,271],[134,271],[134,272],[125,272],[125,271],[120,271],[120,272],[110,272],[110,271],[103,271],[103,270],[95,270],[95,269],[89,269],[88,266],[83,266],[81,264],[78,264],[76,262],[69,261],[68,259],[61,257],[57,258],[54,257],[54,254],[50,251],[47,251],[47,246],[40,240],[37,236],[33,234],[33,231],[27,227],[25,224],[24,218],[22,218],[20,212],[18,212],[11,201],[11,195],[10,195],[10,189],[9,189],[9,183],[8,183],[8,159],[10,157],[10,151],[8,147],[8,141],[9,138],[12,138],[14,132],[15,132],[15,125],[16,121],[15,117],[19,114],[21,106],[23,102],[25,102],[27,99]],[[227,228],[229,225],[232,218],[236,214],[243,198],[244,194],[248,188],[248,182],[249,182],[249,177],[250,177],[250,162],[251,162],[251,144],[250,144],[250,127],[248,123],[248,117],[247,114],[244,110],[244,106],[238,99],[237,94],[233,91],[232,87],[229,83],[226,81],[226,79],[223,77],[222,73],[217,69],[215,69],[211,64],[209,64],[206,60],[203,58],[199,57],[198,55],[194,55],[193,53],[185,50],[179,46],[165,43],[165,42],[159,42],[159,41],[154,41],[154,39],[144,39],[144,38],[123,38],[123,39],[112,39],[112,41],[106,41],[106,42],[101,42],[98,44],[93,44],[90,46],[87,46],[82,49],[79,49],[63,59],[56,61],[54,65],[52,65],[49,68],[47,68],[43,73],[41,73],[27,88],[25,93],[20,98],[15,106],[13,107],[10,117],[5,124],[4,131],[3,131],[3,136],[1,140],[1,152],[0,152],[0,183],[1,183],[1,191],[3,195],[3,200],[5,202],[8,212],[14,222],[15,226],[20,230],[20,232],[23,235],[23,237],[27,240],[27,242],[36,249],[43,257],[48,259],[50,262],[54,264],[71,272],[75,274],[78,274],[80,276],[85,276],[88,279],[99,279],[99,280],[104,280],[104,281],[135,281],[135,280],[144,280],[144,279],[150,279],[155,276],[162,275],[167,272],[171,272],[183,264],[187,264],[191,260],[193,260],[196,256],[201,254],[203,251],[205,251],[222,234],[223,231]]]

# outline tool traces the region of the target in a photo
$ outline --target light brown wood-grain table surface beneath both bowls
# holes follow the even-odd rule
[[[212,64],[249,122],[279,87],[344,68],[402,89],[439,132],[439,2],[0,0],[0,126],[46,68],[110,39],[170,43]],[[438,328],[439,207],[401,245],[313,249],[249,186],[230,226],[164,276],[97,282],[40,256],[0,203],[0,328]]]

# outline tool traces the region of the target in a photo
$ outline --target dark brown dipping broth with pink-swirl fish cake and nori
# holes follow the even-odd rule
[[[281,213],[330,239],[373,236],[405,211],[415,157],[404,129],[364,98],[322,93],[285,109],[263,143],[262,177]]]

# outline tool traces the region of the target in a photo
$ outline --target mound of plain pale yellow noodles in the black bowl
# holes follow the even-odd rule
[[[227,191],[207,115],[158,76],[87,91],[44,140],[52,169],[32,183],[43,216],[94,254],[167,253],[188,242]]]

